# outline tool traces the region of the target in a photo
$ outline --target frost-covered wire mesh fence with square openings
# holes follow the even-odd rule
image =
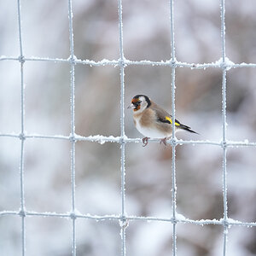
[[[223,255],[227,255],[227,241],[228,241],[228,230],[231,226],[244,226],[244,227],[256,227],[255,222],[242,222],[239,220],[234,220],[229,218],[228,214],[228,185],[227,185],[227,150],[229,147],[256,147],[256,143],[253,142],[241,142],[241,141],[228,141],[226,137],[226,125],[227,125],[227,113],[226,113],[226,73],[227,70],[231,68],[238,67],[256,67],[253,63],[241,63],[236,64],[226,57],[226,44],[225,44],[225,1],[220,1],[220,17],[221,17],[221,38],[222,38],[222,56],[220,60],[212,63],[187,63],[177,61],[175,55],[175,37],[174,37],[174,13],[175,6],[174,1],[170,0],[170,41],[171,41],[171,53],[172,56],[169,61],[129,61],[125,59],[124,55],[124,44],[123,44],[123,14],[122,14],[122,0],[118,1],[118,14],[119,14],[119,59],[108,61],[90,61],[90,60],[79,60],[74,54],[74,41],[73,41],[73,6],[72,0],[68,0],[68,10],[67,16],[69,21],[69,46],[70,46],[70,57],[68,59],[57,59],[57,58],[42,58],[42,57],[27,57],[23,54],[23,40],[22,40],[22,26],[21,26],[21,3],[17,0],[17,13],[18,13],[18,28],[19,28],[19,44],[20,44],[20,56],[18,57],[8,57],[1,56],[0,61],[19,61],[20,62],[20,134],[14,133],[0,133],[0,137],[15,137],[20,140],[20,210],[18,211],[2,211],[0,216],[6,215],[19,215],[21,219],[21,242],[22,242],[22,255],[26,255],[26,216],[35,217],[60,217],[60,218],[70,218],[72,222],[72,254],[77,253],[77,241],[76,241],[76,225],[78,218],[88,218],[93,220],[114,220],[119,221],[120,234],[121,234],[121,255],[126,255],[126,229],[131,221],[159,221],[172,224],[172,255],[175,256],[178,253],[177,247],[177,224],[215,224],[223,226]],[[167,7],[166,7],[167,8]],[[25,122],[25,92],[24,92],[24,63],[26,61],[52,61],[56,64],[67,62],[70,64],[70,136],[44,136],[38,134],[26,134],[26,122]],[[89,136],[82,137],[76,134],[75,131],[75,67],[76,65],[90,65],[90,66],[114,66],[119,67],[119,78],[120,78],[120,103],[119,103],[119,116],[120,116],[120,136],[119,137],[104,137],[104,136]],[[139,143],[141,139],[139,138],[129,138],[125,135],[125,67],[129,66],[158,66],[158,67],[170,67],[172,69],[172,117],[175,119],[175,79],[176,79],[176,69],[182,67],[190,67],[192,69],[206,69],[206,68],[221,68],[222,69],[222,137],[219,141],[205,141],[205,140],[181,140],[177,139],[174,134],[174,129],[172,129],[172,139],[169,140],[169,144],[172,146],[172,217],[170,218],[157,218],[157,217],[139,217],[130,216],[126,213],[125,209],[125,145],[126,143]],[[174,128],[174,122],[172,122]],[[72,191],[72,206],[71,212],[69,213],[56,213],[56,212],[32,212],[26,211],[25,205],[25,195],[24,195],[24,172],[26,168],[24,167],[24,148],[26,148],[26,140],[28,139],[52,139],[52,140],[66,140],[70,141],[71,144],[71,191]],[[75,168],[75,153],[76,153],[76,143],[79,141],[89,141],[95,143],[119,143],[121,158],[120,158],[120,179],[121,179],[121,209],[119,215],[90,215],[81,214],[77,211],[76,207],[76,168]],[[151,143],[159,142],[157,139],[150,139]],[[201,219],[194,220],[184,217],[177,212],[177,183],[176,183],[176,147],[177,145],[211,145],[218,146],[223,150],[223,205],[224,212],[223,218],[220,219]]]

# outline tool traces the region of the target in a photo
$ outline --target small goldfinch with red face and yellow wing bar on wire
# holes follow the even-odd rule
[[[147,146],[148,138],[160,138],[160,143],[166,145],[166,140],[172,137],[172,115],[151,101],[148,96],[137,95],[131,100],[128,108],[133,109],[133,121],[137,131],[143,134],[143,147]],[[175,119],[176,131],[192,131],[187,125]]]

